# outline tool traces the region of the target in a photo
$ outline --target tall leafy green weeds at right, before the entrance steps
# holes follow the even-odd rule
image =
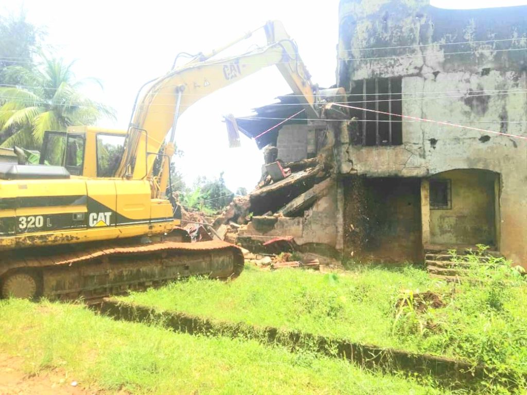
[[[395,309],[394,336],[424,352],[484,363],[492,367],[491,379],[483,383],[485,393],[514,392],[502,378],[525,386],[527,282],[522,268],[486,254],[486,246],[477,247],[467,255],[450,252],[464,280],[435,285],[434,291],[446,302],[444,308],[418,312],[411,292],[397,295],[405,303]]]

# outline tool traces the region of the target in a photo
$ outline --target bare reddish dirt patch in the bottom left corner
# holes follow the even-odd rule
[[[46,371],[38,376],[24,372],[24,359],[0,353],[0,395],[103,395],[108,392],[72,386],[74,377],[61,369]]]

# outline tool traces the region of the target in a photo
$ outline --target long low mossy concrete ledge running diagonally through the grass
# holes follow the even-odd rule
[[[151,306],[120,302],[112,298],[103,299],[100,311],[114,319],[157,323],[175,332],[241,337],[264,344],[280,344],[291,351],[316,348],[321,354],[346,358],[366,369],[380,369],[387,373],[397,371],[405,374],[430,375],[449,388],[474,386],[491,375],[495,378],[493,368],[483,365],[474,366],[463,360],[381,348],[300,331],[211,320],[177,311],[157,311]],[[514,385],[512,375],[509,377],[502,374],[500,379],[511,386]]]

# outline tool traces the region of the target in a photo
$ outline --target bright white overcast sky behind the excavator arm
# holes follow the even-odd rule
[[[435,0],[444,8],[479,8],[527,4],[527,0]],[[9,0],[0,13],[24,7],[28,20],[46,27],[46,42],[57,55],[76,60],[78,77],[101,78],[99,100],[118,112],[116,122],[101,126],[126,129],[138,88],[167,72],[179,52],[207,52],[265,23],[282,21],[299,47],[312,81],[335,84],[338,41],[338,0],[115,1]],[[265,44],[263,34],[238,46]],[[227,186],[251,190],[260,178],[262,155],[256,144],[242,137],[242,147],[229,149],[222,115],[249,115],[252,108],[274,102],[290,89],[276,70],[267,68],[193,105],[178,123],[177,145],[184,152],[177,161],[188,183],[198,175],[225,172]]]

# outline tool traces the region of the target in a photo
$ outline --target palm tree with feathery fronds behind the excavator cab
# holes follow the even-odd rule
[[[38,149],[46,130],[66,130],[71,125],[94,124],[102,117],[115,118],[112,108],[94,102],[78,89],[95,78],[74,81],[73,62],[43,57],[37,67],[4,69],[16,86],[0,87],[0,146]],[[13,133],[13,134],[11,134]],[[11,135],[9,135],[11,134]],[[6,138],[7,137],[7,138]]]

